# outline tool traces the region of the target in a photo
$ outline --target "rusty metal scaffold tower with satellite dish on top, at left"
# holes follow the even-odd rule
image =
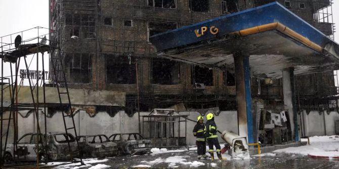
[[[36,166],[39,166],[39,160],[43,158],[43,155],[45,155],[44,162],[48,162],[48,146],[47,146],[47,107],[58,107],[59,109],[62,109],[62,115],[63,115],[63,122],[65,127],[65,133],[68,135],[68,132],[70,130],[73,130],[76,137],[76,129],[74,125],[74,119],[73,119],[73,110],[71,108],[71,103],[69,99],[69,93],[67,88],[67,83],[65,76],[63,72],[63,67],[60,61],[60,55],[55,55],[52,53],[60,53],[57,52],[59,49],[57,46],[50,43],[50,40],[48,39],[50,33],[53,30],[44,28],[44,27],[34,27],[28,30],[24,30],[21,32],[17,32],[14,34],[10,34],[7,36],[0,37],[1,45],[0,45],[0,58],[1,64],[2,64],[2,70],[1,70],[1,85],[2,85],[2,91],[1,91],[1,126],[0,126],[0,133],[1,133],[1,143],[0,143],[0,154],[2,155],[0,160],[0,167],[4,166],[4,160],[14,160],[16,162],[29,162],[25,159],[20,159],[19,156],[25,155],[21,154],[20,148],[18,148],[18,111],[20,110],[31,110],[34,112],[34,118],[36,120],[36,131],[33,135],[39,136],[40,138],[36,140]],[[53,52],[54,51],[54,52]],[[49,82],[46,80],[48,79],[46,77],[46,71],[45,71],[45,61],[46,58],[44,57],[46,53],[50,53],[49,55],[49,62],[52,66],[53,70],[53,76],[51,76],[52,81],[50,83],[55,83],[58,90],[58,96],[59,96],[59,102],[56,103],[48,103],[46,102],[46,95],[45,95],[45,86]],[[33,61],[34,56],[36,57],[36,61]],[[30,63],[27,62],[28,58],[32,57]],[[22,76],[22,74],[19,75],[19,67],[20,62],[24,62],[25,66],[25,77],[28,79],[27,82],[24,83],[24,78],[21,77],[20,79],[18,76]],[[36,70],[32,71],[31,69],[34,69],[31,67],[31,63],[34,62],[34,66],[36,66]],[[5,63],[8,66],[6,71],[4,70]],[[56,69],[56,66],[59,66],[61,69]],[[42,67],[42,71],[39,71],[39,69]],[[14,70],[14,72],[13,72]],[[9,75],[4,75],[5,72],[10,72]],[[22,72],[20,72],[22,73]],[[35,80],[33,80],[35,79]],[[20,82],[19,82],[20,80]],[[39,84],[40,83],[40,84]],[[28,85],[29,86],[29,95],[31,97],[30,101],[20,102],[21,99],[19,99],[20,89],[22,86]],[[42,91],[41,87],[43,88]],[[39,90],[40,89],[40,90]],[[6,90],[9,90],[6,92]],[[23,89],[21,89],[23,90]],[[9,93],[8,95],[5,95],[6,93]],[[28,96],[29,97],[29,96]],[[63,98],[68,98],[67,102],[62,102]],[[27,96],[26,96],[27,98]],[[40,98],[40,100],[39,100]],[[42,98],[42,100],[41,100]],[[65,100],[65,99],[64,99]],[[69,114],[66,114],[66,111],[69,110]],[[41,127],[39,124],[39,111],[44,114],[44,131],[41,132]],[[8,118],[4,115],[6,112],[9,112]],[[70,117],[72,121],[72,127],[66,126],[66,117]],[[4,127],[4,122],[7,122],[7,126]],[[13,124],[13,125],[12,125]],[[11,133],[10,126],[13,126],[13,155],[7,152],[7,143],[9,141],[9,134]],[[35,130],[34,129],[34,130]],[[5,135],[4,135],[5,134]],[[45,136],[44,139],[41,138]],[[3,142],[3,139],[5,139],[5,142]],[[74,152],[71,150],[70,143],[69,143],[68,137],[66,137],[66,142],[68,144],[68,152],[71,155],[71,159],[74,162],[73,159]],[[45,143],[45,144],[44,144]],[[76,140],[77,143],[77,140]],[[77,144],[78,145],[78,144]],[[40,150],[40,151],[39,151]],[[27,153],[27,152],[26,152]],[[26,154],[27,155],[27,154]],[[6,161],[8,162],[8,161]],[[80,162],[82,163],[82,159],[80,158]],[[25,163],[20,163],[20,165],[23,165]],[[31,163],[28,163],[31,164]],[[7,165],[8,166],[8,165]]]

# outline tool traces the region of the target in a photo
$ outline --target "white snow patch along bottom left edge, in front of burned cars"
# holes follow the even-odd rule
[[[81,165],[80,162],[77,162],[77,163],[70,163],[70,162],[48,162],[46,165],[47,166],[55,166],[54,168],[58,168],[58,169],[67,169],[67,168],[77,169],[77,168],[92,166],[92,163],[106,162],[106,161],[108,161],[108,159],[106,158],[106,159],[100,159],[99,160],[97,158],[86,158],[86,159],[82,159],[82,161],[85,163],[85,165]],[[101,165],[103,165],[103,164],[101,164]],[[109,165],[106,165],[105,167],[109,167]],[[100,168],[100,167],[98,166],[97,168]],[[101,167],[101,168],[103,168],[103,167]]]

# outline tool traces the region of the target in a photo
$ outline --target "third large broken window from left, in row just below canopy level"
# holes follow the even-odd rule
[[[176,61],[152,60],[152,84],[172,85],[180,83],[180,67]]]

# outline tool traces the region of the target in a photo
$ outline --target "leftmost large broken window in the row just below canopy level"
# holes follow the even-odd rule
[[[92,81],[92,57],[89,53],[67,53],[65,68],[69,72],[70,83],[90,83]]]

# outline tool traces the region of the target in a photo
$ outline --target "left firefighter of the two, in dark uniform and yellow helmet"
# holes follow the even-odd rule
[[[195,144],[198,146],[198,159],[206,157],[206,139],[204,137],[205,125],[203,117],[198,116],[197,124],[194,126],[193,135],[196,137]]]

